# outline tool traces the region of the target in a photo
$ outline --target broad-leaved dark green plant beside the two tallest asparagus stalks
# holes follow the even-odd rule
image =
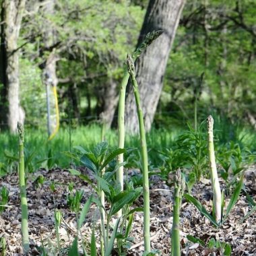
[[[80,179],[89,183],[96,192],[97,197],[94,197],[92,201],[94,201],[94,203],[96,203],[100,209],[100,234],[102,238],[101,252],[105,256],[110,255],[117,236],[117,230],[121,218],[116,220],[115,227],[113,228],[111,235],[110,220],[112,220],[113,216],[115,216],[117,212],[125,207],[125,205],[130,205],[135,199],[137,199],[137,197],[139,197],[141,194],[141,188],[126,189],[125,191],[121,191],[121,188],[117,187],[116,185],[115,174],[119,165],[112,164],[112,162],[115,162],[115,159],[119,154],[125,152],[124,149],[118,148],[110,150],[106,141],[99,143],[92,151],[86,151],[84,148],[78,146],[75,147],[75,149],[77,150],[78,154],[74,154],[73,157],[80,159],[84,166],[92,170],[96,185],[94,184],[94,181],[92,181],[92,179],[90,179],[86,174],[82,174],[78,170],[74,169],[70,169],[69,171],[71,174],[76,175]],[[102,169],[104,168],[105,172],[102,173]],[[104,191],[106,200],[110,204],[109,210],[106,210],[105,205],[102,205],[100,200],[102,191]],[[104,211],[106,215],[106,228],[104,226],[102,211]]]

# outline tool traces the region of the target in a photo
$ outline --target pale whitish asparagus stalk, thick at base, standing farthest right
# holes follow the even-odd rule
[[[216,222],[221,220],[222,193],[220,191],[220,183],[218,179],[215,154],[214,154],[214,119],[210,115],[207,117],[208,128],[208,150],[210,159],[210,173],[212,180],[212,190],[214,191],[214,218]]]

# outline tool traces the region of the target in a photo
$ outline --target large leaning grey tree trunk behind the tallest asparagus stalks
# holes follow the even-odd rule
[[[184,4],[185,0],[150,0],[141,28],[138,44],[148,32],[164,30],[136,62],[137,82],[147,131],[151,128],[162,92],[164,72]],[[127,90],[125,109],[127,131],[137,133],[135,98],[131,86]]]

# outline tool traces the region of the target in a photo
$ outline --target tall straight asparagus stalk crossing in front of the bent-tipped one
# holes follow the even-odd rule
[[[127,56],[127,70],[131,77],[131,84],[133,85],[133,92],[137,106],[137,116],[139,119],[139,135],[141,142],[141,156],[142,156],[142,174],[143,174],[143,237],[144,249],[146,253],[150,249],[150,186],[148,181],[148,149],[146,141],[146,130],[143,121],[143,113],[139,98],[139,88],[135,79],[135,67],[131,56]]]

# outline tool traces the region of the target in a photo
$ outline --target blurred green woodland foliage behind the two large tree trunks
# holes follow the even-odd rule
[[[20,89],[15,90],[20,110],[15,112],[25,114],[26,125],[46,129],[49,69],[57,86],[61,125],[69,121],[84,125],[103,116],[115,127],[126,55],[135,49],[149,1],[30,0],[23,1],[23,7],[18,6],[22,1],[13,1],[18,14],[19,8],[24,9],[17,44],[7,50],[8,1],[1,2],[1,129],[8,123],[6,51],[18,54]],[[159,6],[161,13],[164,5]],[[13,17],[18,18],[17,13]],[[195,111],[199,121],[215,113],[228,122],[255,127],[255,17],[253,0],[185,3],[161,79],[163,87],[157,89],[161,92],[154,127],[182,127],[194,121]],[[133,115],[129,106],[127,111]]]

